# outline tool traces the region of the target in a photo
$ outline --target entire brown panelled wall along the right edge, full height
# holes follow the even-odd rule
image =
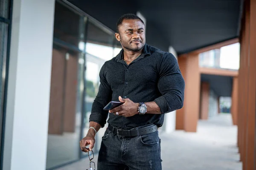
[[[238,146],[243,170],[255,170],[256,0],[245,0],[240,33]]]

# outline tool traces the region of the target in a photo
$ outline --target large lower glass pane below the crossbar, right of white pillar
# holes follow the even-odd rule
[[[83,57],[53,45],[47,168],[79,159]]]

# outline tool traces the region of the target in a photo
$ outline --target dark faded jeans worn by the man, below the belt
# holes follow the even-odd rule
[[[119,137],[106,130],[98,156],[98,170],[162,170],[158,131]]]

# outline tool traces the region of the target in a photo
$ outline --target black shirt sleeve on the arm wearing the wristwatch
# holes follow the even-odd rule
[[[163,55],[158,65],[158,90],[162,96],[154,100],[161,113],[168,113],[183,107],[185,81],[181,75],[177,59],[171,54]]]

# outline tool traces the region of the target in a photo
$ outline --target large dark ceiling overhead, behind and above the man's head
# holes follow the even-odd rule
[[[238,37],[241,0],[68,0],[115,31],[116,20],[140,11],[147,43],[177,54]]]

